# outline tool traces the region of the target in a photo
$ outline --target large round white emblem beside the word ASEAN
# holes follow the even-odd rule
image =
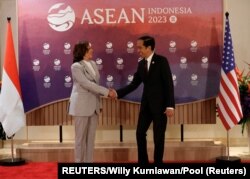
[[[48,12],[47,20],[49,26],[58,32],[69,30],[75,23],[75,12],[64,3],[53,5]]]

